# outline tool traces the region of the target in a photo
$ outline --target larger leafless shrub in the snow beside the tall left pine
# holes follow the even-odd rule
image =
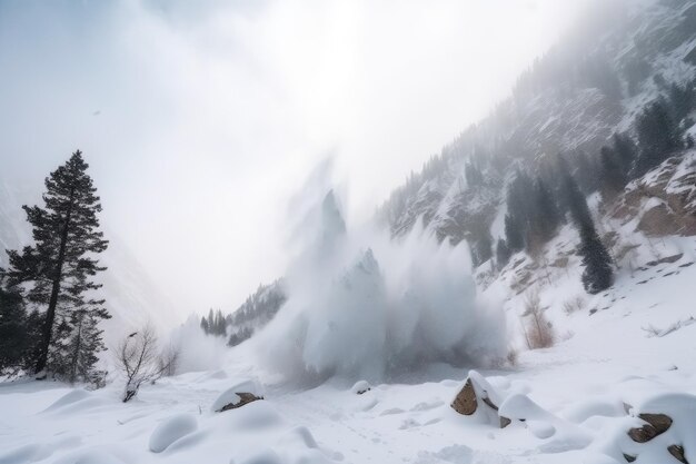
[[[177,352],[175,352],[177,353]],[[126,378],[123,403],[132,399],[143,383],[153,383],[171,371],[177,355],[162,356],[155,329],[149,324],[126,336],[116,351],[116,364]]]

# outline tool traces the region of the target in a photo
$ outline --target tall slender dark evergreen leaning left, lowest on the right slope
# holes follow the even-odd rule
[[[569,174],[564,179],[570,216],[580,235],[579,253],[585,266],[583,287],[589,294],[597,294],[614,284],[612,257],[597,235],[587,200],[577,182]]]

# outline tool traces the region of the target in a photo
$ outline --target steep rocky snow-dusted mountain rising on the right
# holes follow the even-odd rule
[[[682,254],[687,265],[690,241],[667,237],[696,235],[696,152],[688,148],[696,136],[696,2],[613,2],[590,13],[487,118],[411,174],[376,217],[395,239],[421,223],[439,240],[467,240],[480,290],[508,295],[507,308],[519,314],[527,294],[540,293],[545,305],[558,299],[548,293],[555,285],[569,288],[558,307],[606,303],[588,302],[579,287],[579,237],[560,205],[560,157],[587,195],[617,285],[625,285],[627,269],[634,274],[665,257]],[[639,128],[656,102],[674,119],[678,144],[646,165],[647,136]],[[616,156],[617,140],[633,146],[636,159],[625,169],[626,185],[612,192],[601,151]],[[545,181],[566,218],[540,249],[500,263],[494,255],[506,238],[508,189],[520,174]],[[253,310],[246,305],[246,314]],[[519,325],[518,312],[511,314],[510,324]]]

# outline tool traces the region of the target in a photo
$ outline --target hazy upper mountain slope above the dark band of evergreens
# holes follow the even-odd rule
[[[634,6],[580,29],[537,61],[490,117],[391,195],[380,216],[394,235],[422,218],[440,238],[467,238],[473,247],[487,234],[498,238],[505,185],[516,169],[543,170],[558,154],[581,169],[578,156],[597,161],[599,148],[616,132],[635,132],[643,108],[672,85],[693,88],[693,1]],[[480,171],[481,185],[470,185],[467,166]]]

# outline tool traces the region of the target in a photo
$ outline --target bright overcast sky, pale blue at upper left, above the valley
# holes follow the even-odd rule
[[[581,0],[0,2],[0,177],[80,148],[102,219],[186,310],[287,263],[328,156],[349,220],[507,96]]]

